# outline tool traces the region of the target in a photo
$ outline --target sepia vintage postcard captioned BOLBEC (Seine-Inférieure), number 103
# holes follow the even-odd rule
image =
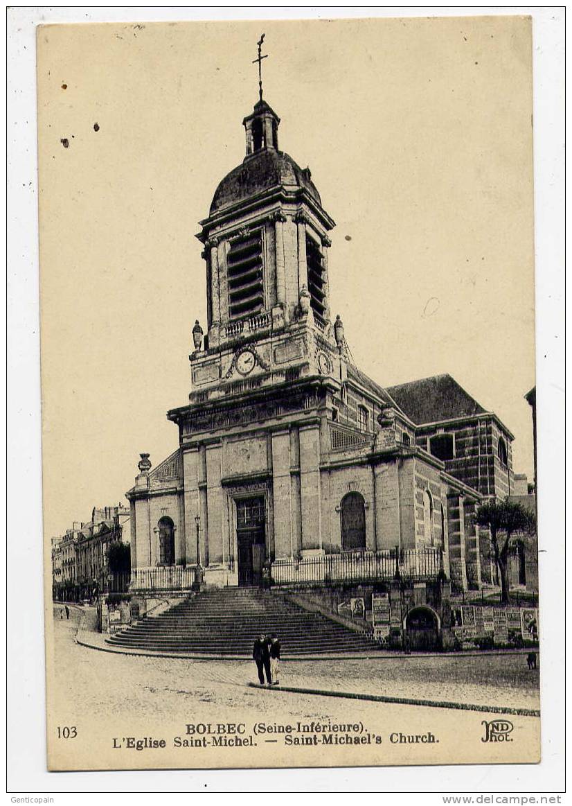
[[[540,760],[532,44],[38,27],[50,770]]]

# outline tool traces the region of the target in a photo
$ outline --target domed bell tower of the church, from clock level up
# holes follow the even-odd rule
[[[328,232],[309,168],[280,151],[280,118],[262,98],[243,119],[242,163],[220,182],[197,238],[204,244],[207,322],[193,330],[189,400],[234,381],[336,376]],[[244,384],[242,384],[244,386]]]

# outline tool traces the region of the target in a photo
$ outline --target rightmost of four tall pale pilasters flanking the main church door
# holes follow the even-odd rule
[[[302,555],[322,551],[320,490],[320,426],[300,426]]]

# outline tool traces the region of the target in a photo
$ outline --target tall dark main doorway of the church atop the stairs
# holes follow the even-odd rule
[[[238,584],[262,583],[266,558],[266,505],[264,496],[236,501],[236,536],[238,542]]]

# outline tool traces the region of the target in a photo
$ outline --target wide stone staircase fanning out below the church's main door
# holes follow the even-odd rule
[[[260,633],[276,633],[282,656],[375,651],[366,634],[295,605],[280,592],[221,588],[184,599],[107,639],[112,646],[154,652],[251,657]]]

